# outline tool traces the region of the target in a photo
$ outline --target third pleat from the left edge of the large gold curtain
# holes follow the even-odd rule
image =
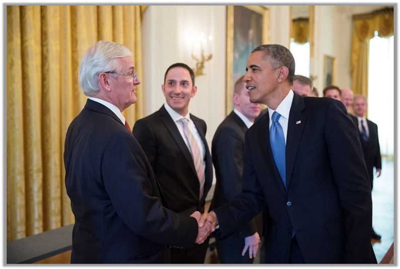
[[[61,226],[60,7],[42,6],[43,228]]]

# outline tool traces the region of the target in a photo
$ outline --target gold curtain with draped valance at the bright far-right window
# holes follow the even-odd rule
[[[375,31],[378,31],[379,37],[392,36],[393,20],[392,8],[353,16],[350,75],[354,94],[368,96],[369,40],[375,36]]]

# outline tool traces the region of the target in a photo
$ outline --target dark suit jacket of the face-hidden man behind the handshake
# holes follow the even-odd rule
[[[222,121],[212,139],[211,156],[217,178],[210,210],[221,207],[241,192],[243,148],[247,126],[235,112]],[[223,242],[244,245],[244,238],[255,232],[262,234],[262,216],[251,220],[238,231],[226,236]]]

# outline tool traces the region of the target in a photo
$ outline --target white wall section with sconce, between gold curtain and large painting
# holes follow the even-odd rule
[[[201,32],[213,36],[213,56],[205,63],[205,75],[195,79],[197,94],[189,111],[206,121],[206,139],[211,146],[214,132],[225,118],[226,6],[149,6],[142,22],[142,89],[145,115],[149,115],[165,102],[161,85],[167,68],[176,62],[195,66],[188,39]]]

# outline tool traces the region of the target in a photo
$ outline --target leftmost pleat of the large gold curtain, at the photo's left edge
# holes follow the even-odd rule
[[[26,236],[20,7],[7,7],[7,241]]]

